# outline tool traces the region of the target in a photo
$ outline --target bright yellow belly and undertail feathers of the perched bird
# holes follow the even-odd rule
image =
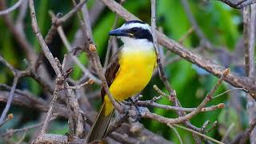
[[[150,82],[155,63],[154,50],[122,53],[119,58],[120,70],[110,86],[110,93],[118,102],[138,94]],[[108,115],[113,106],[107,96],[104,100],[105,115]]]

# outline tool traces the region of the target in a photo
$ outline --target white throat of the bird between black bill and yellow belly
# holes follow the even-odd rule
[[[130,51],[151,51],[154,50],[154,44],[153,42],[148,41],[147,39],[135,39],[135,38],[129,38],[129,37],[120,37],[124,49]]]

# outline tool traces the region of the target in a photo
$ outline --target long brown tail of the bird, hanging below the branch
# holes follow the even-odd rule
[[[91,126],[90,133],[87,135],[86,143],[101,142],[106,136],[114,110],[112,110],[111,114],[105,115],[105,105],[106,103],[102,102],[102,106],[98,112],[96,121],[94,122],[93,126]]]

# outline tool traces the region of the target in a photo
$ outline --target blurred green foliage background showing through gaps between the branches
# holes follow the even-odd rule
[[[12,6],[16,0],[8,0],[7,5]],[[94,7],[95,1],[89,0],[87,2],[88,9],[91,10]],[[235,54],[239,40],[242,38],[242,15],[239,10],[234,10],[229,6],[222,4],[215,0],[212,1],[199,1],[199,0],[189,0],[190,9],[194,14],[198,22],[198,26],[202,29],[206,38],[209,38],[210,42],[214,46],[219,47],[219,49],[225,49],[230,54]],[[132,14],[141,18],[143,21],[150,23],[150,1],[149,0],[126,0],[123,6],[129,10]],[[38,0],[35,1],[35,9],[38,18],[38,25],[42,31],[43,36],[46,36],[47,31],[51,26],[51,18],[48,14],[49,10],[53,10],[55,14],[62,13],[66,14],[71,10],[73,4],[71,1],[46,1]],[[18,15],[18,10],[14,10],[11,17],[15,19]],[[31,46],[38,52],[40,46],[38,45],[38,40],[35,37],[31,26],[30,26],[30,14],[29,10],[26,12],[25,19],[25,32],[26,38],[29,40]],[[104,62],[107,41],[109,39],[108,32],[111,30],[114,24],[115,14],[108,8],[105,8],[97,20],[92,26],[94,42],[98,46],[98,53],[100,54],[102,63]],[[121,26],[124,21],[119,18],[118,26]],[[157,25],[162,28],[163,33],[168,37],[178,41],[182,38],[184,34],[191,28],[191,24],[186,17],[185,10],[182,3],[179,0],[158,0],[157,1]],[[79,29],[78,18],[74,17],[70,21],[66,22],[63,26],[66,36],[70,42],[74,42],[74,34]],[[187,49],[195,50],[196,47],[200,45],[200,39],[194,32],[190,34],[186,41],[183,42]],[[60,38],[54,38],[54,45],[50,47],[54,56],[62,59],[63,55],[66,54],[66,48],[63,46]],[[166,50],[163,50],[166,53]],[[6,28],[3,19],[0,17],[0,54],[6,58],[14,67],[24,70],[26,68],[26,60],[24,60],[25,55],[15,41],[10,30]],[[228,62],[226,65],[225,61],[221,61],[220,54],[214,51],[206,50],[206,52],[200,53],[205,58],[211,58],[215,62],[218,62],[222,66],[228,66],[232,71],[238,74],[243,74],[242,67],[236,66],[237,62]],[[176,58],[177,55],[170,54],[171,58]],[[224,56],[225,57],[225,56]],[[81,62],[85,65],[88,64],[88,59],[86,54],[81,54],[79,56]],[[241,59],[241,58],[238,58]],[[178,99],[184,107],[196,107],[202,101],[202,98],[210,91],[217,81],[217,78],[208,74],[206,71],[192,65],[186,60],[180,60],[178,62],[171,63],[171,65],[166,66],[166,74],[174,90],[176,90]],[[82,71],[76,66],[72,77],[74,79],[79,79],[82,76]],[[6,83],[11,86],[13,80],[13,75],[9,70],[7,70],[2,64],[0,64],[0,83]],[[162,90],[166,91],[162,82],[159,80],[158,75],[152,78],[150,84],[143,90],[142,95],[145,99],[153,98],[158,95],[154,89],[153,85],[158,85]],[[42,89],[40,86],[34,82],[31,78],[22,78],[18,83],[18,88],[22,90],[29,90],[34,95],[44,98]],[[98,89],[95,86],[93,90]],[[231,86],[224,84],[218,88],[215,95],[222,93],[223,91],[230,89]],[[92,90],[92,91],[93,91]],[[247,125],[246,111],[245,111],[245,101],[242,96],[242,92],[236,91],[236,93],[241,96],[239,105],[240,111],[238,112],[237,107],[232,103],[232,97],[230,94],[224,94],[220,98],[213,99],[207,106],[216,105],[220,102],[226,104],[226,108],[222,110],[214,110],[210,112],[205,112],[198,114],[196,117],[191,119],[191,122],[195,126],[202,126],[206,120],[210,122],[218,121],[218,126],[211,130],[209,135],[212,138],[217,138],[220,140],[225,134],[227,128],[231,123],[235,123],[235,128],[230,134],[230,138],[234,138],[240,130],[243,130]],[[239,99],[238,98],[238,99]],[[97,106],[95,102],[95,106]],[[158,101],[162,104],[170,104],[166,98],[162,98]],[[3,110],[5,103],[0,103],[0,111]],[[37,123],[40,120],[39,114],[36,111],[25,109],[18,106],[11,106],[10,112],[14,113],[14,120],[6,123],[5,126],[0,128],[0,133],[4,132],[6,129],[10,128],[20,128],[23,126],[29,126],[32,123]],[[177,115],[174,112],[160,110],[156,108],[150,108],[152,112],[157,114],[162,114],[166,117],[175,118]],[[152,122],[148,119],[143,119],[142,123],[149,130],[154,131],[157,134],[162,134],[165,138],[178,143],[178,138],[169,127],[164,126],[158,122]],[[68,132],[68,126],[66,120],[58,119],[50,127],[50,133],[54,134],[65,134]],[[184,143],[193,143],[192,134],[190,132],[178,129],[179,134],[181,134]],[[30,130],[26,134],[26,141],[30,140]],[[233,134],[234,133],[234,134]],[[14,135],[14,141],[20,138],[21,135]],[[0,140],[1,142],[1,140]]]

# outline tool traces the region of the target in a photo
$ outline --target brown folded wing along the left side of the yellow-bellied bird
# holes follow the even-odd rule
[[[110,87],[111,83],[114,81],[114,78],[116,76],[116,74],[118,73],[118,70],[120,68],[119,65],[119,52],[121,49],[119,49],[115,54],[113,54],[113,56],[110,58],[110,65],[107,66],[106,68],[106,72],[105,72],[105,77],[106,77],[106,82],[107,85]],[[104,88],[102,87],[102,101],[104,99],[104,96],[106,94],[106,91],[104,90]]]

